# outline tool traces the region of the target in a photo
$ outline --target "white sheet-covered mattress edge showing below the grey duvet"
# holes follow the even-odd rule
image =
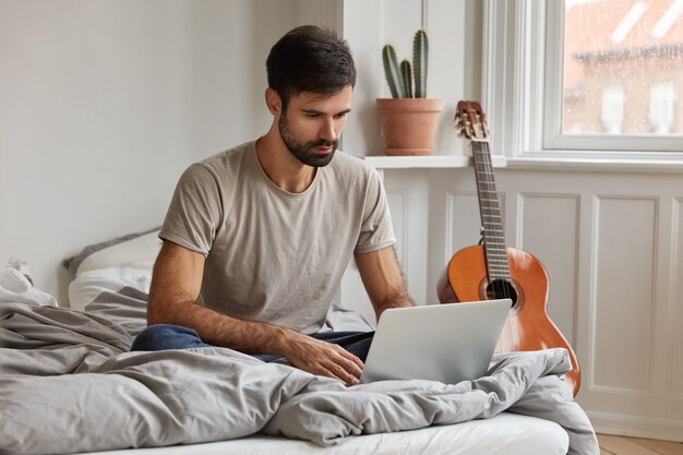
[[[92,452],[89,455],[564,455],[567,450],[567,433],[558,423],[503,412],[490,419],[453,426],[354,436],[329,447],[253,435],[207,444]]]

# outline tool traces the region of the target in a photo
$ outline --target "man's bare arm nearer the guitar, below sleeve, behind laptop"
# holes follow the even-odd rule
[[[378,320],[387,308],[415,307],[408,295],[394,247],[369,253],[356,253],[356,264]]]

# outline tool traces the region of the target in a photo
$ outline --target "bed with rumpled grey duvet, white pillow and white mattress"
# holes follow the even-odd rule
[[[598,454],[562,349],[496,355],[459,384],[346,387],[226,348],[129,352],[156,231],[65,262],[70,309],[0,271],[0,453]],[[335,330],[368,322],[335,304]]]

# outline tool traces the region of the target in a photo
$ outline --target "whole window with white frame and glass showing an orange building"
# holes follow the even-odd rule
[[[495,148],[683,158],[683,0],[487,0],[484,21]]]

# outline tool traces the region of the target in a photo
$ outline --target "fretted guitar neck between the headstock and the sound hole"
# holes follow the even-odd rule
[[[488,141],[471,141],[489,280],[510,279],[505,232]]]

